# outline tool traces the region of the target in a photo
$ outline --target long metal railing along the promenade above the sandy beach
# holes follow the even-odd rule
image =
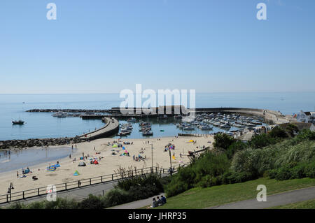
[[[179,166],[184,167],[188,166],[189,163],[179,164],[177,166],[173,166],[174,171],[172,173],[176,173],[178,171]],[[177,168],[176,168],[177,167]],[[98,185],[102,183],[109,183],[118,180],[123,180],[126,178],[133,178],[135,176],[146,175],[149,173],[160,173],[160,174],[169,174],[170,168],[159,168],[159,167],[147,167],[141,168],[139,170],[134,171],[125,171],[121,173],[113,173],[109,175],[101,175],[94,178],[88,178],[83,180],[76,180],[72,182],[64,182],[55,185],[57,192],[64,192],[71,189],[83,188],[91,185]],[[21,201],[29,198],[34,198],[36,196],[46,196],[49,192],[47,191],[47,187],[38,187],[35,189],[28,189],[22,192],[13,192],[0,195],[0,204],[8,203],[11,201]]]

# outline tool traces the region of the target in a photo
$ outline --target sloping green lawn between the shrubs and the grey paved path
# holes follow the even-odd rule
[[[260,178],[232,185],[220,185],[209,188],[193,188],[167,199],[167,204],[156,209],[202,209],[225,203],[255,199],[258,185],[267,187],[267,195],[279,194],[295,189],[314,187],[315,179],[304,178],[278,181]]]

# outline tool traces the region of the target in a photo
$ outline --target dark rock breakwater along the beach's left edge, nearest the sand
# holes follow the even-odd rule
[[[45,147],[50,145],[69,145],[80,143],[83,140],[78,137],[64,137],[64,138],[30,138],[25,140],[7,140],[0,141],[0,150],[8,150],[13,148],[31,148],[31,147]]]

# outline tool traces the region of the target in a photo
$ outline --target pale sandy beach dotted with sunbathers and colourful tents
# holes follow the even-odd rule
[[[196,143],[190,143],[193,140]],[[69,157],[59,159],[60,167],[56,171],[48,172],[46,170],[48,163],[38,164],[36,166],[29,166],[32,173],[27,174],[26,178],[17,178],[17,171],[22,175],[22,170],[9,171],[0,174],[0,194],[6,194],[10,182],[13,183],[12,192],[21,192],[27,189],[34,189],[38,187],[47,187],[48,185],[57,185],[59,183],[71,182],[76,180],[82,180],[100,175],[108,175],[117,171],[118,168],[137,167],[146,168],[151,167],[151,143],[153,143],[153,166],[159,166],[163,168],[169,168],[169,152],[164,152],[165,146],[169,143],[175,145],[175,150],[171,150],[172,155],[175,154],[176,160],[172,159],[172,165],[179,165],[181,163],[187,163],[189,158],[187,157],[188,151],[198,150],[197,147],[212,146],[214,143],[213,136],[207,137],[167,137],[167,138],[149,138],[149,139],[121,139],[118,143],[125,147],[125,150],[129,152],[130,157],[120,156],[125,150],[122,148],[113,148],[112,143],[115,141],[113,138],[102,138],[95,141],[78,143],[73,145],[77,147],[76,154],[73,154],[71,159]],[[132,145],[124,145],[124,142],[132,143]],[[211,142],[211,143],[209,143]],[[111,143],[111,145],[108,145]],[[69,145],[63,145],[69,147]],[[62,147],[62,146],[58,146]],[[71,145],[70,145],[71,147]],[[95,148],[95,150],[94,150]],[[54,148],[49,148],[53,150]],[[85,160],[87,166],[80,167],[80,157],[87,154],[90,156]],[[116,155],[113,155],[116,152]],[[141,153],[142,152],[142,153]],[[97,154],[99,153],[99,154]],[[138,155],[146,157],[144,161],[134,161],[133,156]],[[183,154],[180,157],[180,154]],[[90,158],[103,157],[98,165],[90,164]],[[73,159],[76,158],[76,161]],[[51,161],[50,164],[56,164]],[[26,167],[26,166],[25,166]],[[80,175],[74,176],[73,173],[78,171]],[[32,176],[36,176],[38,180],[32,180]]]

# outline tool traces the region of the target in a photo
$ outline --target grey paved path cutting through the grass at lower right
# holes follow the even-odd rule
[[[292,192],[270,195],[267,196],[266,202],[258,202],[256,199],[251,199],[206,209],[262,209],[283,206],[300,201],[309,201],[311,199],[315,199],[315,187],[297,189]]]

